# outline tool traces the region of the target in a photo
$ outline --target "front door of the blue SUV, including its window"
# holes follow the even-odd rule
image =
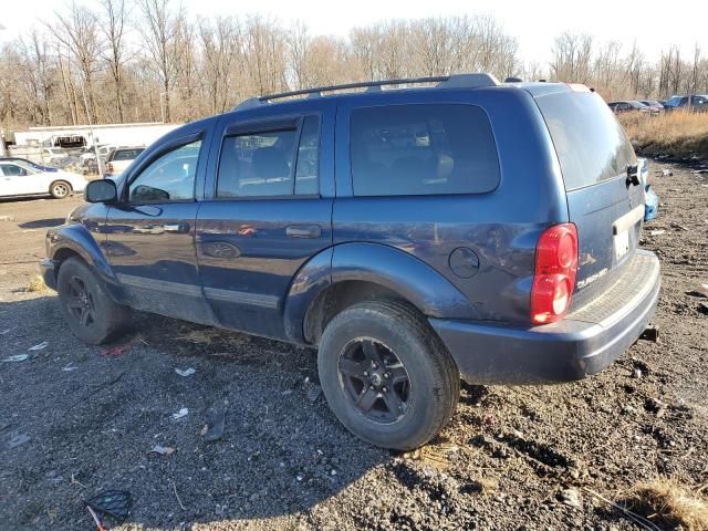
[[[108,209],[106,254],[134,308],[211,323],[194,244],[201,146],[199,135],[173,142],[129,176]]]

